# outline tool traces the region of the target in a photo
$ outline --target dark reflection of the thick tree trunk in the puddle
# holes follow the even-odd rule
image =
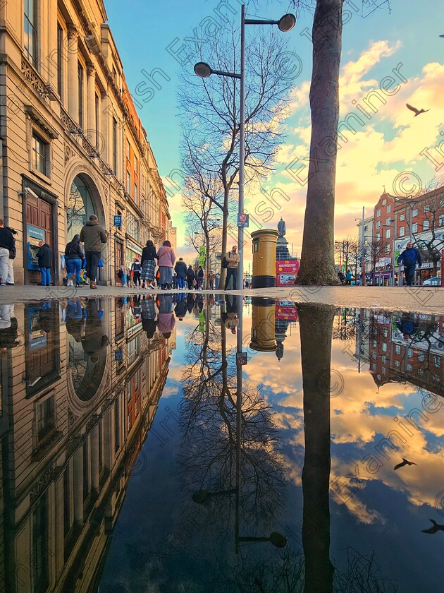
[[[304,510],[302,545],[304,593],[333,591],[330,561],[330,398],[331,339],[335,308],[298,307],[304,391],[305,455],[302,469]]]

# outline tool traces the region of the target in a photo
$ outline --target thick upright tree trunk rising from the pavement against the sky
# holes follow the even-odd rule
[[[313,20],[313,73],[307,205],[297,284],[338,284],[334,257],[339,64],[343,0],[317,0]]]

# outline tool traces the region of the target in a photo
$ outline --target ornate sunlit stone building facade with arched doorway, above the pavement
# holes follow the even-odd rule
[[[61,284],[65,245],[92,213],[108,235],[102,284],[118,284],[147,239],[168,238],[166,193],[106,20],[102,0],[0,5],[0,217],[18,231],[17,284],[39,282],[40,239]]]

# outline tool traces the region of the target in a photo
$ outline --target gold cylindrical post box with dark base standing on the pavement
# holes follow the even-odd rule
[[[276,286],[276,241],[278,232],[261,229],[252,232],[253,274],[252,288]]]

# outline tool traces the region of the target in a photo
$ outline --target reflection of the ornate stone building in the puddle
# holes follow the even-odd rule
[[[170,359],[133,309],[15,306],[18,340],[0,351],[0,590],[94,587]]]

